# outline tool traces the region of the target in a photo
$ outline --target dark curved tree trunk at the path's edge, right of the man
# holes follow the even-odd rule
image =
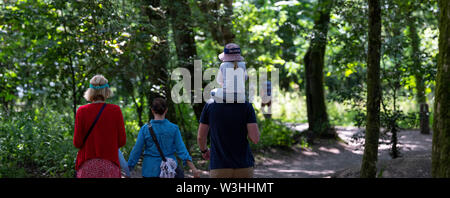
[[[308,124],[313,138],[317,136],[336,138],[336,132],[328,121],[323,85],[325,48],[332,6],[332,0],[319,0],[318,18],[315,20],[313,38],[304,57]]]

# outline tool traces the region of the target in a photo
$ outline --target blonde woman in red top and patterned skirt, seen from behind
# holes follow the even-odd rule
[[[126,135],[120,107],[106,104],[111,96],[105,77],[96,75],[90,80],[84,98],[91,104],[79,107],[75,117],[73,144],[80,149],[77,178],[120,178],[118,150],[125,145]]]

